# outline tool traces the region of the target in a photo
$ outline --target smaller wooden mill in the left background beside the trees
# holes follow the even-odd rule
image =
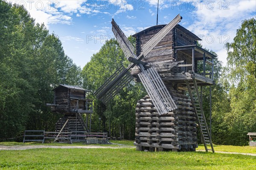
[[[53,91],[54,103],[47,106],[51,107],[52,112],[63,114],[63,117],[56,122],[55,131],[72,132],[76,137],[83,136],[84,132],[90,132],[93,100],[86,97],[90,91],[78,86],[62,84]],[[86,114],[85,122],[81,114]]]

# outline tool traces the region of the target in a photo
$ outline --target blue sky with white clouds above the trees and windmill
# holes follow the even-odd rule
[[[37,23],[60,38],[65,54],[81,68],[113,37],[114,18],[127,35],[156,25],[157,0],[13,0],[25,6]],[[256,0],[159,0],[158,24],[177,14],[180,25],[198,35],[226,64],[226,42],[232,42],[241,21],[256,17]]]

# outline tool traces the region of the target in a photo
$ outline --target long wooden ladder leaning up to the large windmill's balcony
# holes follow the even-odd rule
[[[204,143],[205,150],[206,150],[206,152],[208,152],[209,150],[212,150],[212,153],[214,153],[212,139],[211,139],[211,136],[209,135],[210,133],[209,133],[207,122],[206,122],[206,119],[204,116],[203,105],[202,105],[202,101],[200,99],[197,82],[195,79],[193,79],[193,85],[189,85],[189,82],[186,80],[186,85],[187,85],[187,88],[189,91],[189,96],[190,96],[194,111],[196,113],[199,130],[201,133],[201,137],[202,137],[202,141]],[[207,145],[210,145],[211,149],[208,149]]]

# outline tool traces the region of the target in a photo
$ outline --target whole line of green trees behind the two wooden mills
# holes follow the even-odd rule
[[[62,116],[51,113],[59,83],[79,85],[95,92],[117,68],[128,66],[122,49],[108,40],[83,69],[64,54],[61,41],[44,24],[35,23],[22,6],[0,0],[0,138],[25,129],[55,130]],[[135,46],[135,39],[128,37]],[[212,86],[212,141],[247,145],[256,132],[256,19],[244,20],[232,43],[226,44],[228,64],[215,59]],[[211,51],[213,52],[213,51]],[[198,69],[200,65],[198,65]],[[135,106],[146,95],[141,83],[130,82],[104,105],[93,93],[92,131],[134,139]],[[209,86],[203,87],[203,107],[209,121]],[[99,119],[100,118],[100,119]],[[200,139],[200,138],[198,138]]]

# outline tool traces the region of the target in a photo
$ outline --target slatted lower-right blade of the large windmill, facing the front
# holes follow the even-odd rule
[[[138,76],[160,115],[177,109],[172,96],[154,67],[148,70],[142,69]]]

